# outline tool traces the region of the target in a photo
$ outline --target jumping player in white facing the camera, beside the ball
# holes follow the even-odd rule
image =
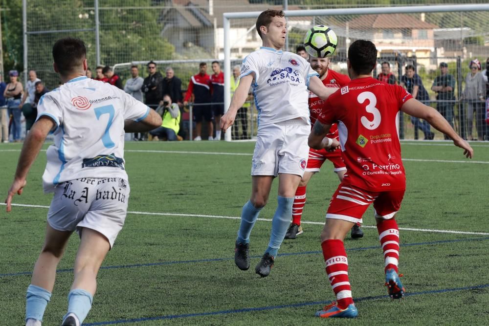
[[[258,135],[252,159],[251,197],[241,213],[234,261],[242,270],[249,268],[249,235],[260,210],[267,204],[273,178],[278,175],[278,206],[270,241],[255,268],[257,274],[266,277],[287,232],[294,194],[307,164],[307,136],[311,128],[308,89],[322,99],[333,90],[324,87],[306,59],[281,50],[287,34],[283,11],[262,12],[256,29],[263,46],[243,60],[240,84],[221,118],[221,129],[225,131],[234,123],[252,85],[259,112]]]

